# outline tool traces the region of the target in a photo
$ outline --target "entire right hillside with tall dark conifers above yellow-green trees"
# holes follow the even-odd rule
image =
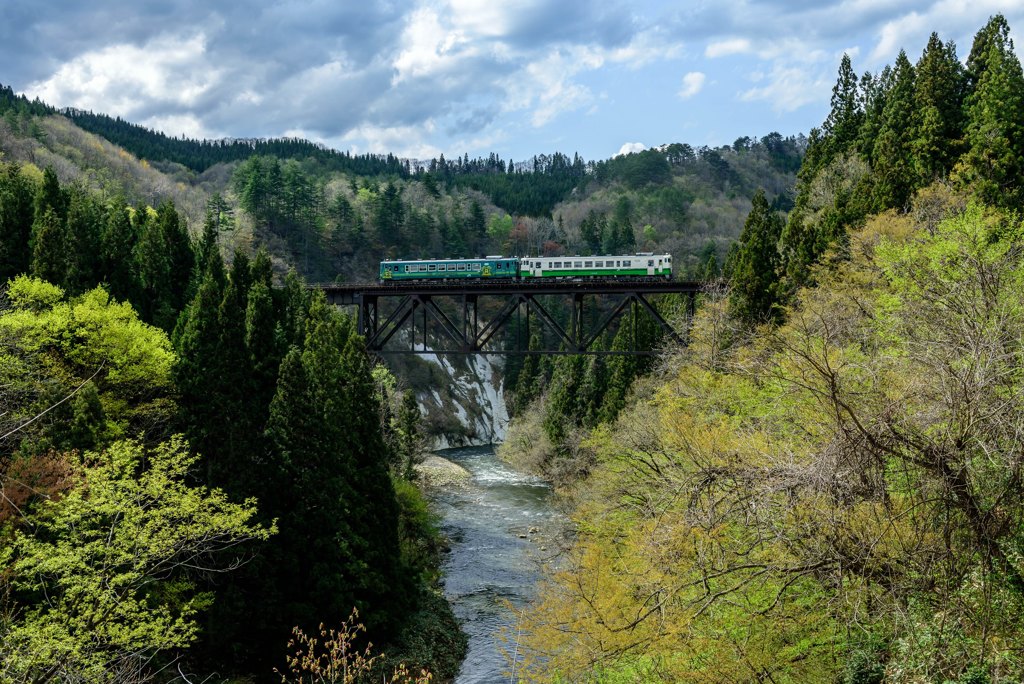
[[[525,679],[1024,679],[1009,34],[966,65],[935,35],[880,74],[844,57],[792,210],[754,199],[688,348],[616,420],[553,432],[594,395],[565,408],[564,380],[526,410],[506,453],[563,476],[579,535],[520,626]]]

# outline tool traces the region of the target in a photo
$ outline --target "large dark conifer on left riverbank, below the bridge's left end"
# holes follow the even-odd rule
[[[280,489],[267,506],[281,533],[263,579],[283,613],[267,624],[314,628],[357,606],[372,633],[386,634],[406,592],[369,362],[323,298],[307,331],[282,362],[267,424]]]

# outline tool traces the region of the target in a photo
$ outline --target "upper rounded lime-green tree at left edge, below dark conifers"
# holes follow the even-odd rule
[[[10,388],[5,424],[29,421],[88,381],[103,415],[90,430],[117,437],[166,429],[173,354],[167,338],[140,322],[130,305],[112,301],[99,288],[66,301],[59,288],[25,275],[9,284],[6,296],[11,308],[0,315],[0,373]],[[54,408],[5,448],[38,454],[81,446],[69,430],[81,400]]]

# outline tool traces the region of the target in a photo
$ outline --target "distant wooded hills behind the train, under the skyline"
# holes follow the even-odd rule
[[[759,187],[790,206],[806,144],[771,133],[606,161],[554,153],[415,162],[294,139],[172,138],[57,112],[9,88],[0,88],[0,114],[8,161],[52,167],[62,182],[122,193],[130,204],[173,200],[194,232],[213,208],[228,251],[266,244],[281,272],[294,265],[312,281],[371,277],[384,257],[633,248],[670,251],[698,275],[712,255],[722,263]]]

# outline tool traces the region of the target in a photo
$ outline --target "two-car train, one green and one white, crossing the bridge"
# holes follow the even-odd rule
[[[672,280],[672,255],[638,252],[605,256],[415,259],[381,261],[381,284],[407,281],[642,277]]]

